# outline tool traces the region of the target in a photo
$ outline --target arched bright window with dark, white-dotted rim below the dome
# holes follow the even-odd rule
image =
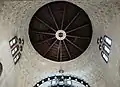
[[[79,79],[76,76],[74,77],[70,75],[69,76],[58,75],[58,76],[51,76],[48,78],[44,78],[39,83],[37,82],[37,84],[34,87],[42,87],[41,85],[46,82],[49,82],[50,84],[48,87],[78,87],[77,86],[78,84],[81,84],[84,87],[90,87],[89,84],[86,83],[84,80]]]

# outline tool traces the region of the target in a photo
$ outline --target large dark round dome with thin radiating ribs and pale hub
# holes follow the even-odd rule
[[[67,1],[54,1],[33,15],[29,37],[35,50],[44,58],[69,61],[88,48],[92,25],[82,8]]]

